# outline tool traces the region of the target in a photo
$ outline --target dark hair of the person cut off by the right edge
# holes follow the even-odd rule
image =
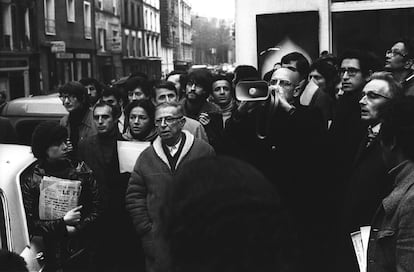
[[[380,139],[392,143],[401,150],[404,157],[414,161],[414,97],[400,97],[393,100],[383,114]]]

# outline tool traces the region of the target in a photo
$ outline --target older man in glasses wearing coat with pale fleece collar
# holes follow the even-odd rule
[[[174,174],[189,161],[214,155],[209,144],[182,130],[183,116],[177,103],[157,106],[155,125],[159,136],[141,153],[129,179],[126,208],[142,239],[147,272],[170,269],[168,245],[163,237],[165,222],[160,211]]]

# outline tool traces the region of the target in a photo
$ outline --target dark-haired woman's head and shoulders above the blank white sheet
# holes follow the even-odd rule
[[[155,108],[149,100],[135,100],[125,109],[125,133],[128,141],[152,142],[157,137],[154,125]]]

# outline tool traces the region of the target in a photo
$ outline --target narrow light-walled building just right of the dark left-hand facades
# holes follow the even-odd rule
[[[95,0],[96,79],[109,84],[123,76],[120,0]]]

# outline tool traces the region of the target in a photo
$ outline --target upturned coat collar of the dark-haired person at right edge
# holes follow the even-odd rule
[[[401,198],[414,184],[414,163],[404,161],[394,167],[389,175],[395,177],[394,190],[382,201],[386,214],[392,214],[398,207]]]

